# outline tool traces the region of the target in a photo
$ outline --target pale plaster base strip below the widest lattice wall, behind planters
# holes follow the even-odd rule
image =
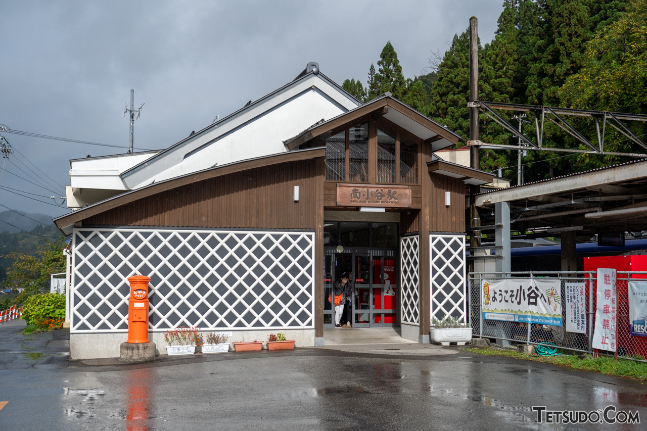
[[[228,332],[228,330],[225,330]],[[288,340],[294,340],[294,346],[313,347],[314,329],[275,329],[273,331],[232,331],[229,337],[230,350],[234,349],[231,343],[247,341],[267,341],[270,334],[278,332],[285,333]],[[204,333],[204,332],[203,332]],[[127,333],[94,333],[94,334],[70,334],[70,359],[100,359],[118,358],[119,347],[128,338]],[[166,355],[166,342],[163,332],[149,333],[149,340],[155,343],[157,353]]]

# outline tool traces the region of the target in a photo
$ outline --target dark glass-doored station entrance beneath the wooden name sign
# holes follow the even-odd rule
[[[352,327],[400,325],[398,223],[324,222],[323,327],[334,327],[334,284],[351,274],[351,298],[342,323]]]

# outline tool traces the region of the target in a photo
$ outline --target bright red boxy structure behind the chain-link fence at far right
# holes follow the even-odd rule
[[[598,268],[615,268],[618,272],[647,271],[647,256],[596,256],[584,258],[584,271],[597,271]],[[622,356],[640,355],[643,358],[647,358],[647,337],[637,337],[630,333],[627,274],[617,274],[616,278],[618,298],[618,354]],[[647,278],[647,274],[631,275],[631,279],[640,278]],[[595,312],[595,290],[593,291],[593,311]]]

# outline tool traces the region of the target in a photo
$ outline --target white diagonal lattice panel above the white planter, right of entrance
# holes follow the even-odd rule
[[[431,317],[467,322],[465,235],[430,235]]]

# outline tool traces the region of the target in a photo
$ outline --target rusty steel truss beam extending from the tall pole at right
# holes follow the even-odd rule
[[[488,118],[494,120],[499,126],[503,127],[513,135],[520,138],[520,145],[506,145],[506,144],[490,144],[481,142],[481,140],[470,140],[470,146],[487,146],[487,148],[507,148],[507,149],[534,149],[544,151],[560,151],[564,153],[589,153],[589,154],[602,154],[602,155],[619,155],[630,157],[645,157],[647,158],[647,143],[637,136],[631,129],[624,124],[624,121],[640,121],[647,122],[647,115],[626,114],[609,111],[589,111],[587,109],[568,109],[553,106],[537,106],[537,105],[521,105],[521,104],[503,104],[498,102],[469,102],[469,107],[476,107],[479,113],[483,113]],[[516,126],[510,124],[508,120],[499,115],[496,111],[520,111],[532,113],[534,116],[534,126],[536,137],[534,140],[529,138],[523,132],[520,132]],[[569,124],[564,117],[577,116],[593,118],[595,122],[596,140],[591,142],[574,127]],[[544,124],[551,122],[560,129],[567,132],[572,137],[576,138],[582,144],[585,144],[590,149],[575,149],[575,148],[551,148],[543,145],[544,138]],[[640,146],[646,153],[629,153],[617,151],[604,151],[604,134],[606,127],[610,126],[613,129],[622,133],[632,142]]]

